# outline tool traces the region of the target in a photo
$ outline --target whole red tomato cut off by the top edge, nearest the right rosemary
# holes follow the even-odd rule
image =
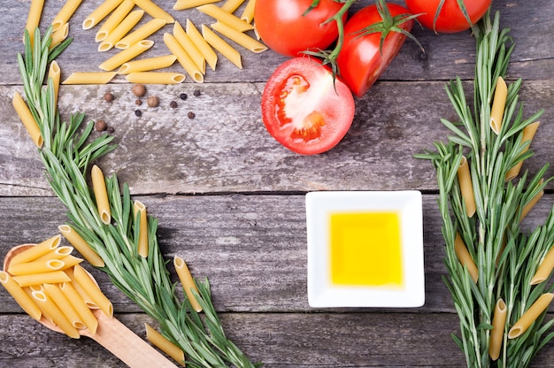
[[[435,27],[433,21],[438,6],[442,0],[406,0],[406,6],[414,14],[422,13],[419,17],[419,23],[428,29],[441,33],[456,33],[465,31],[470,27],[464,13],[458,6],[458,0],[444,0],[441,12],[436,19]],[[489,9],[492,0],[464,0],[466,12],[475,24]]]

